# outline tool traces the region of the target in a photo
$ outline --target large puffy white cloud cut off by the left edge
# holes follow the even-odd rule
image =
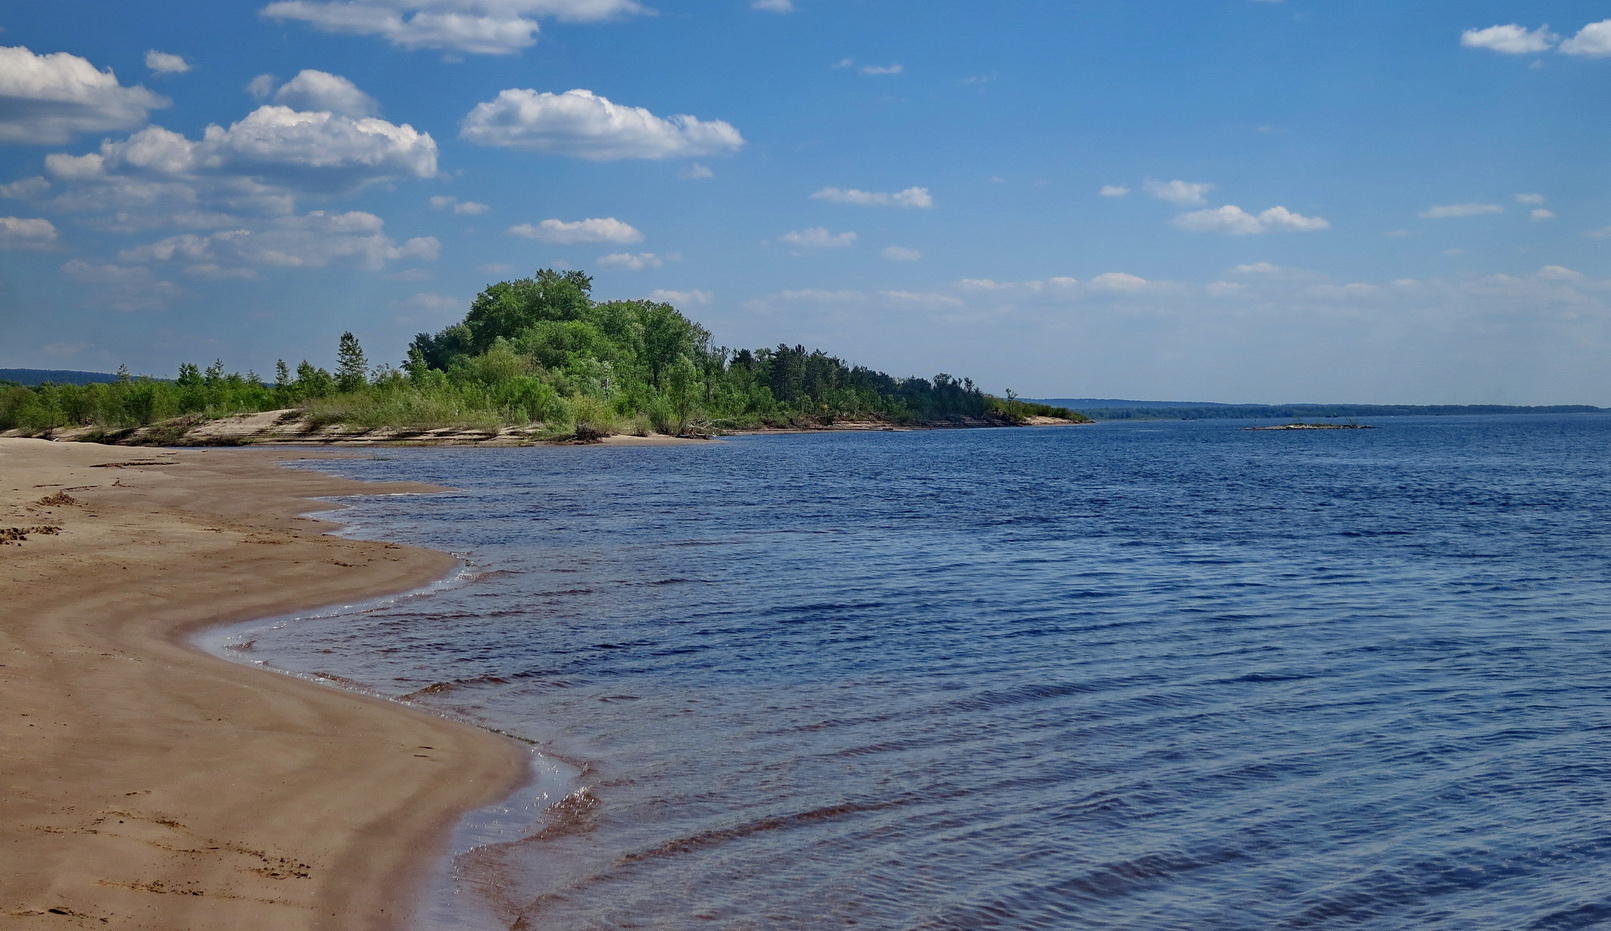
[[[168,105],[77,55],[0,47],[0,143],[52,145],[81,132],[132,129]]]

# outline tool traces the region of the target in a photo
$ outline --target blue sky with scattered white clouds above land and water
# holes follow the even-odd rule
[[[1611,406],[1611,5],[0,10],[0,367],[375,361],[538,267],[1025,396]]]

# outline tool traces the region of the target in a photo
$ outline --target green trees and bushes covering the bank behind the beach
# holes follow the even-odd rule
[[[419,333],[403,367],[372,369],[343,333],[333,372],[306,361],[255,372],[180,366],[179,379],[0,387],[0,430],[108,433],[179,417],[295,408],[316,425],[422,432],[540,425],[548,437],[1083,419],[984,395],[970,379],[896,379],[804,346],[728,350],[673,306],[593,301],[582,272],[545,269],[482,292],[464,321]]]

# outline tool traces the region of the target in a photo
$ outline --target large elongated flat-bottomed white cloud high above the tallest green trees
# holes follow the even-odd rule
[[[736,151],[744,145],[744,137],[720,119],[701,121],[688,114],[662,119],[641,106],[619,106],[580,89],[564,93],[503,90],[495,100],[475,105],[459,137],[477,145],[593,161],[686,158]]]

